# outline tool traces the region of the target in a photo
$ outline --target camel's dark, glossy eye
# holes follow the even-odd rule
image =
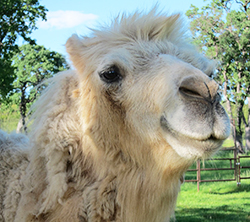
[[[118,82],[122,79],[120,70],[117,66],[112,66],[102,72],[100,72],[100,78],[106,83]]]

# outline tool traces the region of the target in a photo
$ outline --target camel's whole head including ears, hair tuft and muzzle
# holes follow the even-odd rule
[[[186,41],[179,15],[153,10],[118,20],[66,44],[85,90],[80,95],[93,93],[92,118],[117,140],[126,128],[127,140],[164,141],[188,159],[212,154],[230,131],[210,78],[214,62]]]

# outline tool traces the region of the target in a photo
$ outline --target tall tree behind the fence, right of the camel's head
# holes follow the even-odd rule
[[[216,79],[222,84],[226,108],[236,126],[234,138],[240,151],[243,151],[242,128],[247,136],[250,135],[250,106],[247,115],[243,114],[246,101],[250,102],[249,6],[249,0],[211,0],[201,10],[191,5],[186,13],[191,20],[194,42],[206,55],[220,63]],[[233,106],[236,112],[233,112]],[[250,149],[248,139],[246,145]]]

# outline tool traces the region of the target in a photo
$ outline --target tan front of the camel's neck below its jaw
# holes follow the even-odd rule
[[[161,147],[158,147],[160,150]],[[173,152],[173,153],[172,153]],[[161,153],[159,153],[161,154]],[[169,150],[168,159],[165,155],[151,157],[147,165],[139,166],[136,162],[124,162],[99,159],[96,165],[100,170],[100,188],[98,193],[112,194],[115,204],[113,213],[116,221],[123,222],[166,222],[174,212],[174,207],[180,190],[180,178],[188,167]],[[175,161],[172,161],[172,160]],[[115,163],[115,164],[113,164]],[[98,169],[95,166],[94,169]],[[104,175],[106,174],[106,176]],[[97,173],[98,175],[98,173]],[[100,197],[98,202],[103,199]],[[104,201],[105,202],[105,201]],[[110,210],[109,210],[110,211]],[[119,219],[118,219],[119,218]]]

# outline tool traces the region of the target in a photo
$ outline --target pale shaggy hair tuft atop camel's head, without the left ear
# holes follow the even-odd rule
[[[118,15],[108,26],[92,29],[93,36],[102,39],[124,39],[125,41],[160,41],[167,39],[176,42],[186,33],[181,14],[167,15],[156,5],[148,13],[136,11],[133,14]]]

